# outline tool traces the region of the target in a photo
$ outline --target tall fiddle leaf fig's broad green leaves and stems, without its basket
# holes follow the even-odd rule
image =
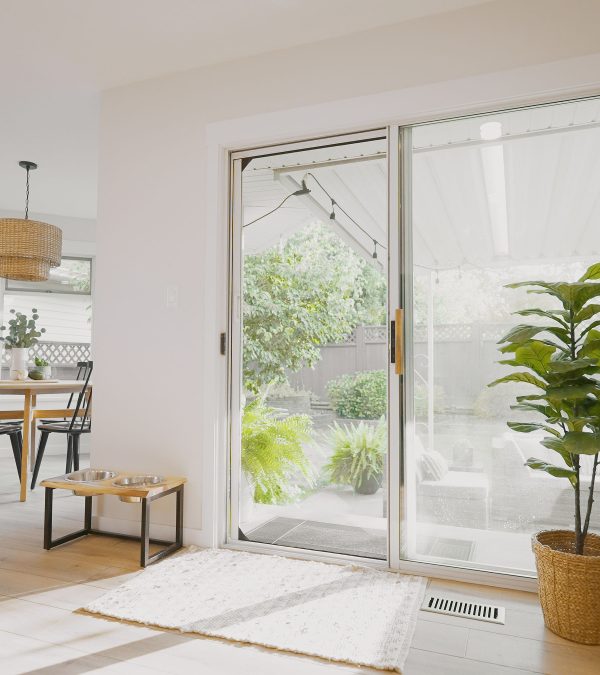
[[[532,412],[543,421],[508,422],[513,431],[543,431],[542,445],[557,453],[557,463],[530,457],[526,466],[566,478],[575,495],[575,553],[583,555],[594,503],[594,484],[600,453],[600,263],[592,265],[575,282],[524,281],[507,288],[526,287],[528,293],[549,295],[553,309],[522,309],[525,317],[544,319],[519,324],[501,340],[499,349],[509,355],[500,363],[516,368],[488,386],[521,382],[534,393],[516,397],[513,410]],[[581,482],[582,455],[593,456],[588,494]],[[582,504],[582,497],[584,497]]]

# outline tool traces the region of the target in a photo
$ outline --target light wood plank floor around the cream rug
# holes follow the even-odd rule
[[[62,473],[48,457],[42,473]],[[0,672],[70,675],[356,675],[368,668],[331,664],[220,640],[123,625],[74,610],[137,574],[138,545],[88,537],[42,549],[43,490],[18,501],[12,458],[0,457]],[[80,526],[83,500],[58,493],[56,534]],[[502,604],[505,626],[421,613],[406,675],[590,675],[600,673],[600,647],[562,640],[544,628],[529,593],[432,580],[446,593]]]

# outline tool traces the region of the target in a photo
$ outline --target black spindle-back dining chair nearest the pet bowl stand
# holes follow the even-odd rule
[[[40,434],[40,443],[35,458],[35,467],[33,469],[33,476],[31,477],[31,489],[35,488],[37,477],[40,472],[42,459],[44,458],[44,451],[50,434],[66,434],[67,436],[67,461],[65,465],[65,473],[70,473],[73,469],[79,471],[79,442],[83,434],[89,434],[92,430],[92,422],[89,415],[90,403],[92,400],[89,393],[89,382],[94,367],[93,361],[83,361],[81,369],[84,373],[83,387],[77,395],[77,403],[73,410],[73,416],[70,420],[56,422],[52,420],[43,420],[42,424],[38,425]],[[73,399],[73,394],[69,398],[70,406]],[[67,406],[67,407],[68,407]]]

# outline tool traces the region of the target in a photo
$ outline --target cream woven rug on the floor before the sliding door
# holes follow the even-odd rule
[[[191,550],[84,611],[401,672],[425,586],[365,567]]]

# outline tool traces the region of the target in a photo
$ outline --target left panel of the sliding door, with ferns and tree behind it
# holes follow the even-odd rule
[[[385,132],[232,173],[230,539],[386,560]]]

